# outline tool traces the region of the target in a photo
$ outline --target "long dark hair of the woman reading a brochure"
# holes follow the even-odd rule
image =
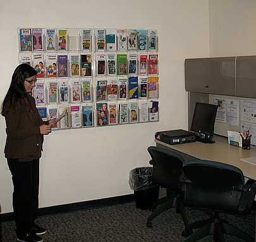
[[[16,108],[20,107],[21,103],[25,103],[26,109],[30,110],[28,107],[27,92],[24,86],[24,81],[25,79],[31,78],[36,74],[37,72],[35,69],[28,64],[20,64],[16,67],[11,78],[11,84],[9,86],[8,92],[2,104],[1,114],[3,116],[6,112],[8,112],[10,107],[14,107],[16,110]]]

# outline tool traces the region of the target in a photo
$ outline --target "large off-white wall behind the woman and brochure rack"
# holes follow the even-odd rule
[[[19,27],[146,28],[159,34],[160,122],[59,130],[45,137],[40,164],[40,207],[132,193],[128,173],[148,166],[147,147],[159,130],[187,129],[186,57],[209,56],[205,0],[2,1],[0,100],[18,65]],[[0,117],[0,150],[5,143]],[[0,153],[0,205],[11,212],[11,175]]]

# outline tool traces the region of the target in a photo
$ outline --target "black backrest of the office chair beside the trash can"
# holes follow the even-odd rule
[[[162,187],[181,191],[183,158],[158,147],[149,147],[148,151],[153,163],[152,181]]]

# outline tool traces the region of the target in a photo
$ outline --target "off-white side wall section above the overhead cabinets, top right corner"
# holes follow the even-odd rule
[[[210,0],[210,57],[256,54],[256,1]]]

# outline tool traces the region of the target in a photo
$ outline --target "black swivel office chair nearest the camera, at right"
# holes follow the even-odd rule
[[[186,242],[195,242],[207,235],[213,235],[214,241],[222,242],[223,234],[254,242],[247,233],[221,219],[219,213],[249,214],[255,197],[255,181],[248,180],[245,184],[239,168],[215,161],[185,161],[183,171],[185,204],[212,214],[209,219],[188,226],[188,229],[199,229]]]

